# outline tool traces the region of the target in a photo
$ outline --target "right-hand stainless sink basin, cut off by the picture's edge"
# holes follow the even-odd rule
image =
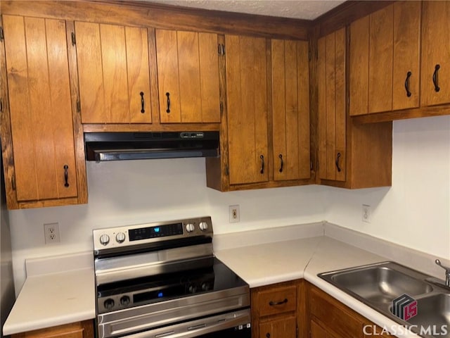
[[[408,320],[412,331],[422,333],[423,337],[435,337],[436,334],[437,337],[450,338],[450,294],[432,294],[417,299],[417,310],[417,315]],[[413,325],[421,325],[425,331],[419,332]],[[442,327],[446,327],[447,332],[441,330]]]

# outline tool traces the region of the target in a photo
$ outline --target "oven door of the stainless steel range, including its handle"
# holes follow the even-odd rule
[[[251,338],[250,309],[116,336],[123,338]]]

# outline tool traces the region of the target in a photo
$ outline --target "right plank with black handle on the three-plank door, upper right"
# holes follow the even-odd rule
[[[392,110],[419,106],[420,80],[420,1],[399,1],[393,5],[394,60],[392,73]],[[408,72],[409,91],[405,81]]]

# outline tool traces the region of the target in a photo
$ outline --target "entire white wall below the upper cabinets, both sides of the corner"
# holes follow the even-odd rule
[[[393,187],[348,191],[307,186],[216,192],[202,158],[87,165],[89,204],[11,211],[16,292],[25,258],[90,251],[91,230],[211,215],[214,232],[328,220],[413,249],[450,258],[450,116],[394,123]],[[228,207],[240,204],[240,223]],[[362,223],[361,204],[373,209]],[[58,222],[60,244],[44,244],[44,223]]]

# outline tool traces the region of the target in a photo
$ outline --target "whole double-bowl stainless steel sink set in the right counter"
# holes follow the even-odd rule
[[[450,338],[450,289],[430,282],[429,275],[382,262],[318,276],[421,337]],[[408,320],[392,311],[393,301],[404,294],[417,301],[417,314]]]

